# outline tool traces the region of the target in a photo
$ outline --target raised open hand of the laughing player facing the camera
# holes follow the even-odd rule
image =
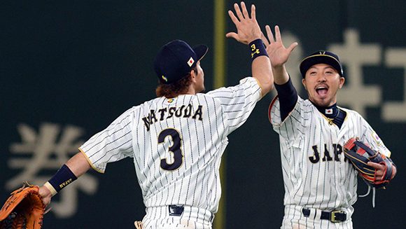
[[[269,55],[269,60],[271,60],[272,67],[281,67],[285,64],[290,56],[290,53],[296,48],[297,42],[290,44],[288,48],[283,46],[281,32],[279,31],[279,26],[275,26],[275,37],[272,34],[271,27],[269,25],[265,26],[268,38],[262,34],[261,39],[267,48],[267,53]]]

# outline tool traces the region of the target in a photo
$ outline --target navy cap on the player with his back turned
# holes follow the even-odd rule
[[[206,55],[207,46],[199,45],[190,48],[188,43],[181,40],[170,41],[162,46],[155,57],[154,69],[160,82],[174,83],[188,76],[199,60]]]

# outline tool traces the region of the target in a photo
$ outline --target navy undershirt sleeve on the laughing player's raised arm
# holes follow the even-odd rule
[[[282,85],[274,83],[276,92],[278,92],[279,104],[281,106],[281,120],[285,120],[288,117],[290,111],[293,111],[297,102],[297,91],[293,87],[293,83],[290,80]]]

